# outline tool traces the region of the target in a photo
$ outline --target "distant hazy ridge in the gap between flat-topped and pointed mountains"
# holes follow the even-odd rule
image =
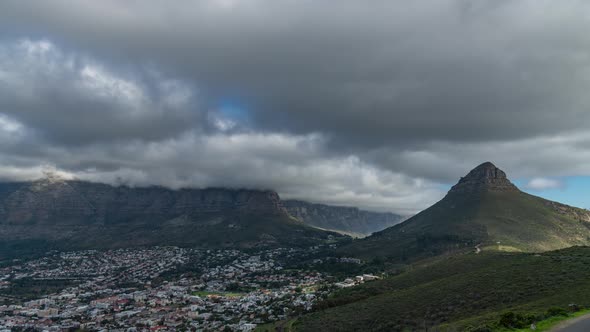
[[[393,213],[359,210],[356,207],[313,204],[298,200],[285,200],[287,212],[304,223],[359,237],[371,235],[400,223],[404,217]]]

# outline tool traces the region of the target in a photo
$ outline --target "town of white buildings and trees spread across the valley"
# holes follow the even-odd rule
[[[376,278],[285,269],[318,249],[153,247],[15,260],[0,268],[0,331],[251,331]]]

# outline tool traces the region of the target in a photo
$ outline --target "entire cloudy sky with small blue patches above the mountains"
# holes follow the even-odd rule
[[[0,180],[413,214],[484,161],[590,208],[590,3],[0,2]]]

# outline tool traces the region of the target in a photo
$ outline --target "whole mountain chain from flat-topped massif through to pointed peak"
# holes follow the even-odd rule
[[[276,192],[263,190],[115,187],[53,176],[0,183],[0,255],[29,247],[307,245],[336,235],[324,230],[377,231],[341,252],[397,261],[475,246],[546,251],[590,244],[589,211],[524,193],[492,163],[479,165],[441,201],[402,220],[391,213],[282,202]]]

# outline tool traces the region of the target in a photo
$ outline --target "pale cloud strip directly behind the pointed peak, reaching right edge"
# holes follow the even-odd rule
[[[590,169],[590,132],[486,142],[431,142],[367,150],[363,159],[413,177],[452,184],[474,166],[492,161],[512,179],[585,176]]]

